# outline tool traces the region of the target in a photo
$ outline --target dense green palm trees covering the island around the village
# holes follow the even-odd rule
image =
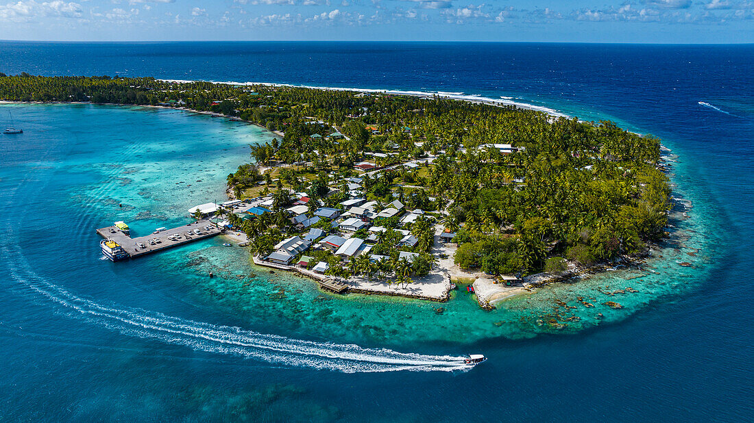
[[[372,160],[385,169],[358,173],[366,198],[378,208],[400,199],[427,210],[426,220],[457,232],[455,262],[463,268],[559,270],[560,257],[595,263],[645,250],[667,225],[670,188],[657,169],[659,140],[611,122],[440,98],[153,78],[2,75],[0,98],[177,103],[283,131],[281,139],[253,146],[255,164],[228,176],[240,196],[264,181],[280,207],[289,188],[338,205],[348,198],[343,179],[357,175],[354,164]],[[329,136],[335,129],[345,137]],[[517,151],[487,146],[495,143]],[[433,160],[414,169],[397,166],[423,157]],[[274,172],[259,172],[263,166]],[[283,215],[275,220],[256,224],[259,244],[271,244],[287,227]],[[430,250],[429,229],[416,233],[424,236],[418,250]],[[375,248],[388,251],[391,242],[381,239]]]

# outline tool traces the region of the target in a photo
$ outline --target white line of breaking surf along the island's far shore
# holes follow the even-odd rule
[[[375,90],[371,88],[347,88],[347,87],[317,87],[313,85],[294,85],[294,84],[274,84],[270,82],[236,82],[236,81],[190,81],[185,79],[161,79],[159,81],[176,82],[176,83],[192,83],[192,82],[211,82],[212,84],[228,84],[228,85],[263,85],[265,87],[295,87],[295,88],[311,88],[314,90],[333,90],[333,91],[354,91],[355,93],[385,93],[395,94],[402,96],[418,96],[418,97],[431,97],[438,96],[446,99],[464,100],[467,102],[483,102],[492,105],[514,105],[518,108],[526,108],[529,110],[542,111],[546,114],[550,114],[555,117],[569,117],[567,114],[556,111],[553,108],[547,108],[544,106],[531,105],[523,102],[513,102],[510,97],[501,96],[500,99],[492,99],[489,97],[483,97],[479,94],[464,94],[464,93],[445,93],[443,91],[428,92],[428,91],[412,91],[412,90]]]

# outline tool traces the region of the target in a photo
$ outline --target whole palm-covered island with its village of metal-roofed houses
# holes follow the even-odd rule
[[[251,146],[252,163],[228,175],[231,201],[205,209],[248,239],[255,263],[334,291],[444,301],[460,285],[492,308],[640,262],[667,236],[673,205],[658,138],[515,105],[30,75],[0,75],[0,99],[175,107],[265,126],[279,138]]]

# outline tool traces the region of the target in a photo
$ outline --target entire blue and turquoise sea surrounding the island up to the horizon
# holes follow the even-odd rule
[[[752,63],[754,45],[2,41],[6,74],[443,92],[614,120],[662,138],[692,207],[651,275],[593,282],[630,278],[624,311],[541,333],[514,324],[520,303],[459,296],[438,317],[325,295],[219,238],[100,260],[97,227],[182,223],[272,135],[182,111],[0,104],[25,131],[0,135],[0,419],[752,421]],[[476,352],[490,359],[467,373],[417,365]]]

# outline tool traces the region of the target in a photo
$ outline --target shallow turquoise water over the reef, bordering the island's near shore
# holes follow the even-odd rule
[[[31,151],[26,150],[26,160],[16,163],[21,166],[16,175],[24,175],[29,185],[18,190],[40,193],[45,198],[31,196],[13,202],[26,216],[19,221],[23,221],[22,226],[9,229],[13,237],[28,240],[18,242],[17,248],[24,251],[25,245],[35,243],[32,239],[44,239],[47,251],[60,251],[77,262],[81,272],[78,278],[90,275],[101,281],[109,275],[112,282],[97,283],[97,294],[87,293],[90,287],[81,292],[98,302],[122,304],[124,290],[152,290],[182,297],[181,301],[190,301],[192,306],[222,310],[234,315],[241,326],[257,330],[275,321],[285,333],[295,336],[364,345],[466,343],[498,336],[516,339],[537,333],[572,332],[619,321],[657,297],[688,290],[694,285],[688,279],[698,275],[678,263],[701,264],[706,257],[687,254],[694,248],[705,249],[700,236],[691,236],[691,242],[684,240],[683,247],[664,249],[663,257],[652,260],[643,271],[619,266],[607,275],[554,285],[505,301],[492,312],[481,310],[474,296],[464,290],[456,291],[452,300],[443,304],[326,294],[306,278],[280,272],[271,275],[268,269],[253,266],[246,249],[226,248],[221,238],[144,260],[110,263],[101,260],[93,229],[124,220],[133,233],[146,234],[155,227],[189,221],[186,210],[192,205],[225,199],[225,175],[248,160],[248,145],[274,135],[253,125],[157,108],[3,108],[12,109],[20,120],[30,123],[19,140],[32,148],[44,145],[45,150],[41,157],[29,156]],[[9,176],[5,182],[14,184],[15,178]],[[48,192],[54,195],[48,196]],[[40,224],[32,224],[37,220]],[[689,231],[699,221],[691,218],[679,224],[684,233],[693,234]],[[89,260],[78,260],[83,257]],[[696,272],[701,269],[700,265]],[[667,281],[667,274],[673,271],[679,272],[679,277]],[[209,278],[210,272],[219,277]],[[42,276],[55,281],[60,273]],[[61,285],[66,286],[64,282]],[[611,294],[625,288],[638,292]],[[584,297],[594,307],[582,305],[577,297]],[[624,309],[605,306],[608,300],[621,303]],[[153,309],[152,301],[122,305]],[[153,311],[163,312],[162,307]],[[440,314],[436,312],[439,307],[444,309]],[[553,318],[556,322],[547,324]]]

